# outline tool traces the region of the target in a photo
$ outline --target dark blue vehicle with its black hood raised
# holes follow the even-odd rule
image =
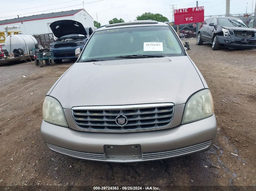
[[[75,57],[75,49],[85,46],[88,40],[85,27],[73,20],[60,20],[50,24],[52,33],[58,39],[50,43],[50,51],[53,52],[54,62],[62,62],[62,59]]]

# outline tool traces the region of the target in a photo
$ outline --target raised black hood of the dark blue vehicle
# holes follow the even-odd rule
[[[60,20],[50,24],[50,28],[55,37],[60,38],[69,34],[87,35],[84,26],[73,20]]]

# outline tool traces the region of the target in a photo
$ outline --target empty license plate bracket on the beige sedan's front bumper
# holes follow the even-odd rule
[[[141,145],[104,145],[108,158],[141,158]]]

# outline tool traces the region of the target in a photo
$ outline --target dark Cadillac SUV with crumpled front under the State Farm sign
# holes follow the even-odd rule
[[[210,17],[198,31],[197,44],[211,43],[213,50],[252,49],[256,47],[256,29],[250,28],[240,18]]]

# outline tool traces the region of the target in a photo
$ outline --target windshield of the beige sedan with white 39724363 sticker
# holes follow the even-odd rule
[[[128,59],[116,58],[128,55],[167,57],[184,56],[184,52],[168,26],[128,27],[95,31],[79,61]]]

